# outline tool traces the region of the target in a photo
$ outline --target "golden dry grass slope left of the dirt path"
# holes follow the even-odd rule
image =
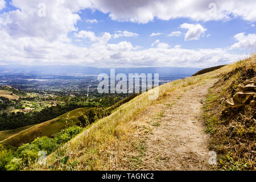
[[[234,69],[236,65],[227,65],[204,75],[176,80],[143,93],[130,102],[118,107],[108,117],[100,119],[84,129],[76,138],[53,152],[47,158],[45,166],[34,164],[28,170],[108,170],[133,169],[136,156],[125,156],[125,152],[143,153],[143,144],[138,143],[135,131],[143,130],[143,126],[134,123],[134,119],[149,106],[163,103],[164,98],[179,88],[197,83],[204,84],[210,78],[217,78]],[[149,100],[148,96],[159,89],[159,98]],[[68,158],[63,164],[61,159]]]

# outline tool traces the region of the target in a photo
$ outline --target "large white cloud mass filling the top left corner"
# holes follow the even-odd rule
[[[39,6],[42,1],[13,0],[12,5],[17,9],[0,14],[0,28],[5,29],[11,36],[38,37],[49,41],[67,41],[67,34],[76,31],[75,24],[80,20],[77,11],[90,7],[90,3],[62,0],[45,0],[45,9]],[[39,16],[39,11],[45,12],[46,16]]]

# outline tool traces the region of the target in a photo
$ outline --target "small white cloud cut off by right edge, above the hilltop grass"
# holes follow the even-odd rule
[[[234,36],[238,42],[233,44],[231,48],[256,48],[256,34],[245,35],[245,32]]]

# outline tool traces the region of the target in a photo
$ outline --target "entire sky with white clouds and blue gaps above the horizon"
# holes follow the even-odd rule
[[[0,0],[0,66],[229,64],[255,25],[255,0]]]

